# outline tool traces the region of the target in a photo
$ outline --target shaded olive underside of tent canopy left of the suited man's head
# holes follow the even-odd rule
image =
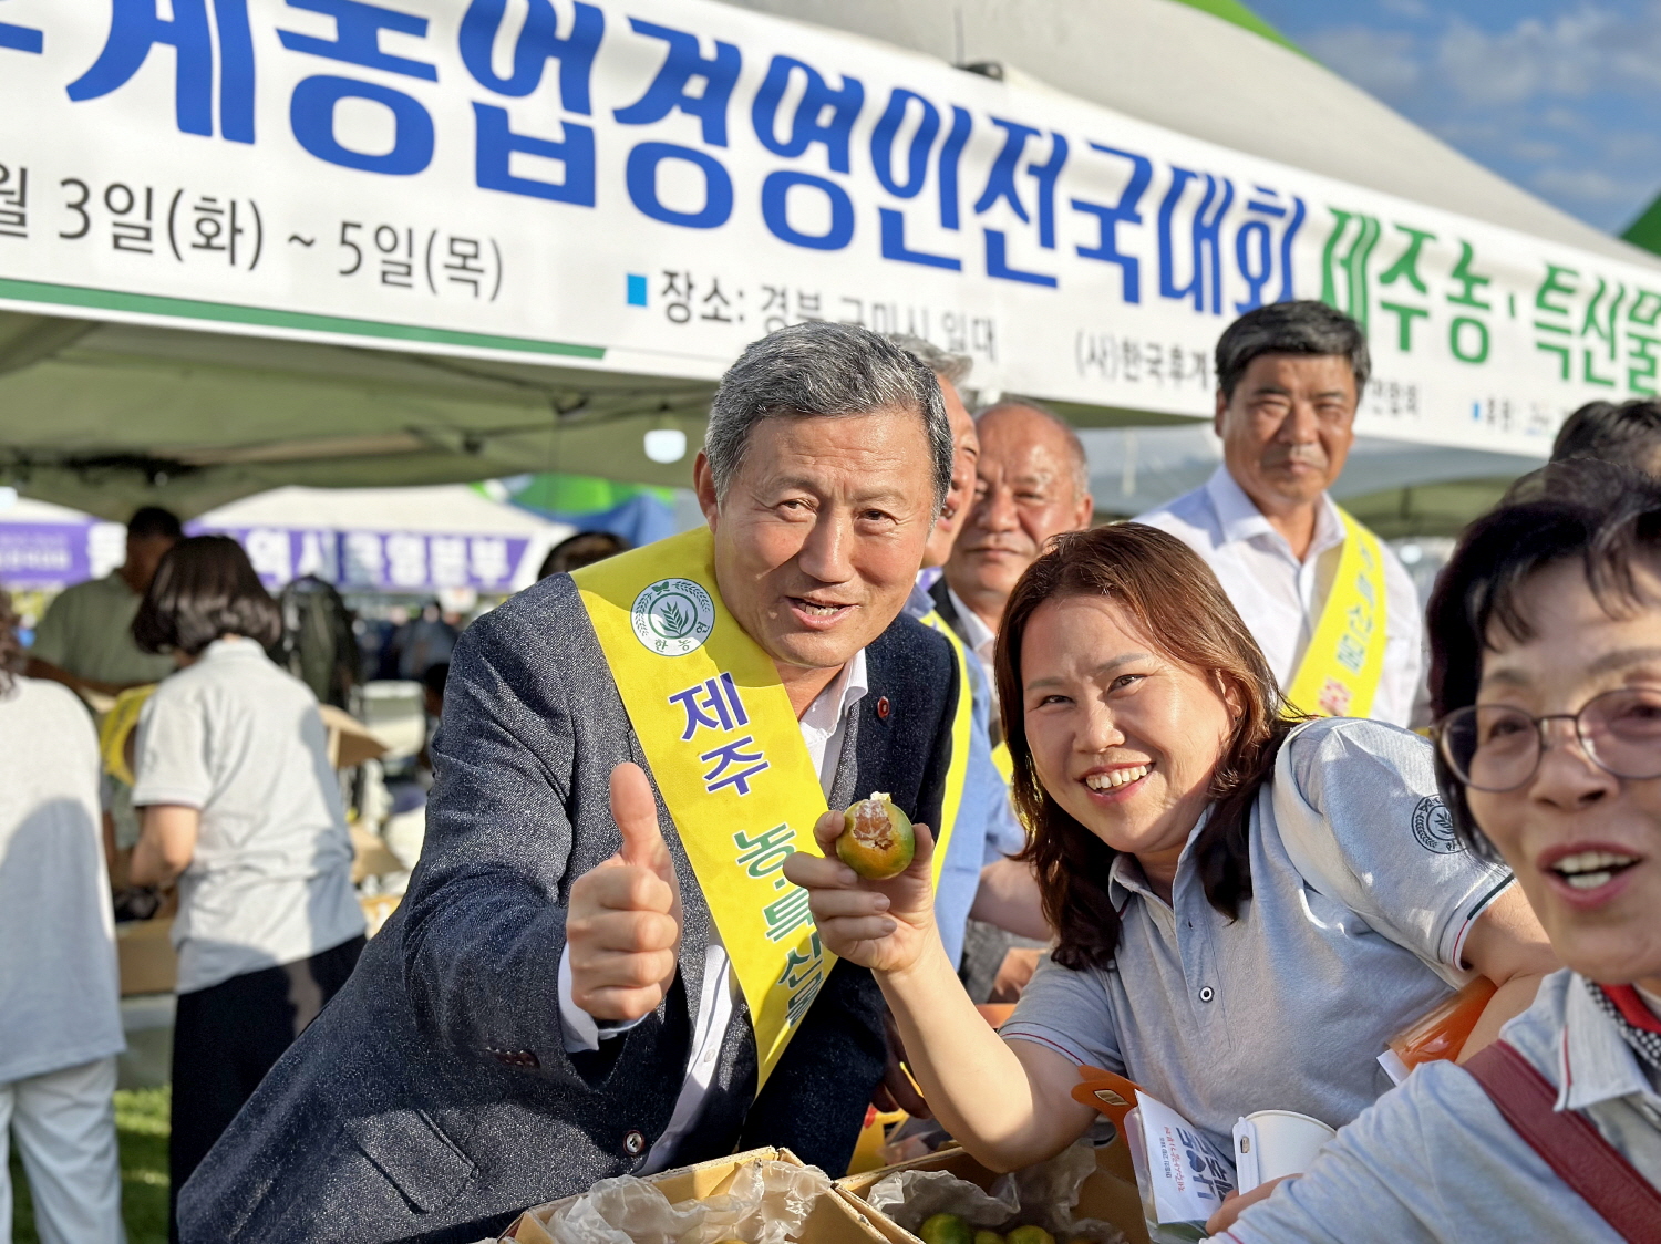
[[[570,470],[679,485],[714,385],[355,345],[0,312],[0,470],[125,518],[282,483],[420,485]],[[10,462],[7,463],[7,458]]]

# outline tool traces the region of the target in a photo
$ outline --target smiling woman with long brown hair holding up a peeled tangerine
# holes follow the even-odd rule
[[[1392,1035],[1480,973],[1472,1046],[1555,967],[1510,875],[1435,827],[1430,744],[1296,724],[1206,565],[1126,523],[1061,536],[998,633],[1015,797],[1060,933],[1010,1023],[975,1015],[933,928],[927,832],[887,882],[792,855],[821,937],[870,967],[930,1108],[1012,1169],[1078,1139],[1081,1065],[1123,1073],[1221,1156],[1241,1114],[1342,1126],[1390,1081]]]

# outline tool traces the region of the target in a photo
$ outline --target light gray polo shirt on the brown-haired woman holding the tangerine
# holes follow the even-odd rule
[[[1335,847],[1344,877],[1304,877],[1292,839]],[[1294,732],[1252,806],[1249,840],[1252,899],[1239,920],[1206,899],[1193,837],[1169,905],[1133,857],[1118,857],[1115,967],[1045,962],[1003,1026],[1007,1040],[1134,1080],[1224,1154],[1242,1114],[1296,1109],[1340,1128],[1387,1091],[1377,1056],[1473,975],[1465,937],[1512,884],[1447,829],[1430,744],[1377,721]]]

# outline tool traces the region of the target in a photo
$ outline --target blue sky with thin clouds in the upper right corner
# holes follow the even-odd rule
[[[1433,135],[1619,233],[1661,193],[1661,0],[1247,0]]]

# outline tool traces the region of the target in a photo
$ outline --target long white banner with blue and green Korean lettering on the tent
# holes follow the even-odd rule
[[[1239,312],[1369,327],[1360,430],[1651,395],[1661,267],[709,0],[0,0],[0,306],[716,377],[804,319],[1209,415]]]

